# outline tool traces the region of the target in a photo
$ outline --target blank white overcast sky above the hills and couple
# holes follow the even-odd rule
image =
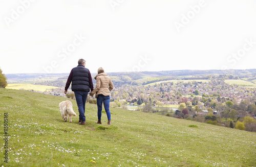
[[[0,68],[69,73],[79,58],[91,73],[256,68],[255,9],[255,0],[0,0]]]

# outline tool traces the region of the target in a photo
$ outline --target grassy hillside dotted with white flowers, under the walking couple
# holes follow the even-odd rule
[[[78,116],[62,120],[64,100],[0,89],[1,133],[7,117],[9,135],[0,166],[256,166],[256,133],[120,108],[111,108],[112,125],[104,113],[98,125],[93,104],[84,127]]]

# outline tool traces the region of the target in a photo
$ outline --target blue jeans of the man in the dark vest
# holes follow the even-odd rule
[[[84,116],[84,112],[86,111],[87,95],[88,91],[75,91],[76,104],[79,111],[79,120],[82,122],[86,122],[86,116]]]

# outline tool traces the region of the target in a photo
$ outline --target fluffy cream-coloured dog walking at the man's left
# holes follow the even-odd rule
[[[60,102],[59,110],[63,120],[67,122],[67,116],[69,115],[69,122],[72,123],[72,115],[76,116],[76,113],[73,110],[71,101],[66,100],[66,101]]]

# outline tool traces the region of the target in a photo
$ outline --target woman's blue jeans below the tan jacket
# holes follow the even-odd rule
[[[101,120],[101,110],[102,110],[102,102],[104,104],[104,108],[106,111],[106,116],[108,116],[108,120],[111,120],[110,114],[110,97],[99,94],[97,97],[97,106],[98,106],[98,120]]]

